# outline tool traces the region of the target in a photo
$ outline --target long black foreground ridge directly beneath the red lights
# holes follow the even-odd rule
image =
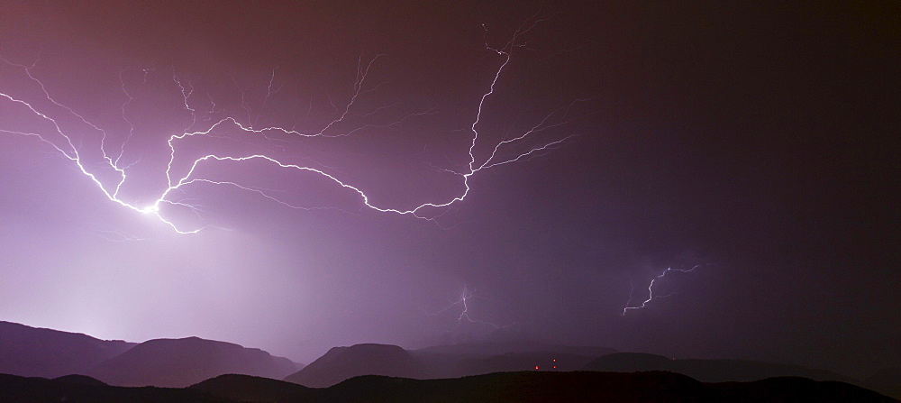
[[[851,384],[803,378],[702,383],[672,372],[501,372],[451,380],[364,376],[323,390],[341,402],[892,402]]]

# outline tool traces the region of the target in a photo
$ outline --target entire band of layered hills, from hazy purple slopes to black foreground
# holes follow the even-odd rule
[[[411,352],[356,344],[332,348],[296,371],[298,365],[286,358],[197,337],[106,342],[9,322],[0,322],[0,336],[0,371],[27,373],[0,373],[0,402],[17,403],[890,402],[896,400],[877,391],[894,396],[901,373],[889,368],[858,381],[770,362],[674,360],[646,353],[597,357],[610,349],[523,341]],[[86,369],[92,363],[96,366]],[[573,371],[578,369],[589,371]],[[156,388],[143,388],[148,385]]]

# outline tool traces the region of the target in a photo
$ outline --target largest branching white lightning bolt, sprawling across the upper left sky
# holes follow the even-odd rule
[[[198,184],[237,188],[242,191],[256,194],[259,197],[268,199],[269,201],[277,203],[281,206],[287,206],[291,208],[321,208],[296,206],[278,198],[275,195],[275,192],[270,191],[269,189],[256,188],[231,180],[205,179],[201,178],[197,173],[197,168],[200,166],[215,164],[217,162],[223,161],[244,163],[247,161],[256,160],[269,164],[272,167],[277,167],[278,169],[295,170],[311,175],[316,175],[324,179],[328,179],[328,181],[331,181],[332,184],[336,187],[344,188],[350,191],[351,194],[356,194],[357,197],[359,197],[359,201],[362,203],[362,205],[369,209],[381,213],[410,215],[414,216],[415,218],[434,222],[436,218],[446,213],[446,210],[441,212],[441,209],[446,209],[447,207],[459,203],[469,196],[469,179],[476,175],[477,172],[544,155],[547,152],[553,151],[568,142],[573,137],[573,135],[563,136],[557,140],[550,142],[539,142],[537,145],[527,147],[524,151],[522,151],[522,149],[520,151],[511,151],[511,148],[514,148],[514,146],[522,147],[521,144],[523,144],[523,142],[525,142],[527,139],[532,139],[537,133],[558,129],[563,125],[570,124],[578,119],[582,119],[587,116],[587,114],[571,116],[569,114],[569,110],[573,105],[587,102],[591,98],[573,100],[569,106],[561,107],[549,114],[545,114],[537,124],[532,125],[531,128],[524,131],[523,133],[519,133],[505,140],[496,142],[492,148],[489,148],[492,151],[485,160],[478,160],[476,157],[475,150],[485,138],[485,136],[480,133],[479,127],[481,122],[483,121],[483,115],[486,114],[486,101],[496,93],[498,80],[502,77],[505,71],[509,69],[509,66],[511,65],[513,60],[514,50],[520,48],[528,49],[528,47],[523,43],[523,35],[531,32],[536,25],[545,21],[544,19],[538,18],[537,15],[538,14],[532,15],[532,17],[530,17],[522,25],[520,25],[513,33],[510,40],[504,44],[504,46],[492,47],[487,43],[487,41],[485,43],[485,49],[495,53],[497,56],[499,56],[500,60],[498,67],[494,70],[493,79],[490,85],[487,87],[486,92],[484,92],[479,99],[478,110],[475,114],[475,118],[473,119],[472,124],[469,125],[471,142],[469,143],[468,169],[463,171],[444,169],[444,171],[456,175],[460,178],[462,184],[460,193],[456,196],[449,197],[443,200],[426,202],[419,206],[414,206],[413,208],[405,209],[378,205],[370,200],[369,195],[361,187],[348,183],[346,180],[339,178],[339,175],[337,173],[333,173],[333,169],[328,169],[328,167],[325,167],[322,164],[291,163],[287,162],[286,160],[278,159],[273,155],[267,155],[264,153],[248,152],[244,155],[223,155],[221,153],[211,152],[206,153],[205,155],[202,155],[199,158],[196,158],[195,160],[188,163],[187,165],[190,168],[187,169],[187,172],[184,172],[183,174],[177,174],[175,172],[175,169],[173,168],[173,166],[176,165],[177,162],[178,164],[183,164],[183,162],[181,162],[181,160],[177,158],[179,150],[181,150],[181,147],[179,147],[180,143],[187,141],[188,138],[194,137],[220,137],[214,133],[214,131],[217,130],[225,131],[228,129],[236,129],[241,133],[256,136],[265,140],[273,146],[284,149],[283,147],[278,146],[278,143],[280,142],[287,142],[281,137],[299,140],[316,137],[349,136],[354,133],[358,133],[359,131],[371,128],[395,127],[398,124],[404,123],[408,119],[434,114],[434,109],[429,109],[414,114],[407,114],[405,117],[391,124],[364,124],[344,133],[336,133],[336,127],[338,127],[340,124],[346,123],[351,116],[366,117],[372,114],[378,114],[380,111],[392,106],[379,106],[378,108],[370,110],[369,112],[358,111],[359,99],[363,96],[367,96],[368,94],[377,91],[378,88],[384,84],[370,84],[368,80],[370,76],[370,69],[379,58],[384,56],[381,54],[378,54],[369,60],[364,60],[362,56],[360,56],[357,63],[357,74],[356,79],[353,83],[353,92],[350,96],[350,100],[348,100],[344,105],[335,105],[334,102],[332,102],[332,97],[329,96],[329,102],[332,103],[332,106],[334,107],[334,110],[338,117],[333,119],[328,124],[324,124],[321,130],[314,133],[301,133],[294,130],[293,128],[287,129],[279,126],[259,127],[259,114],[252,116],[250,105],[248,104],[248,101],[244,96],[244,91],[241,91],[241,107],[247,114],[246,120],[239,120],[238,118],[233,116],[226,116],[221,119],[214,120],[213,124],[209,124],[203,130],[196,130],[194,129],[194,127],[197,124],[202,124],[205,121],[213,121],[210,119],[210,114],[223,112],[223,110],[217,111],[213,96],[207,94],[207,99],[204,100],[204,103],[208,103],[212,106],[210,107],[209,112],[206,113],[206,119],[198,119],[198,107],[194,106],[194,99],[197,97],[196,87],[190,79],[180,77],[173,68],[171,72],[171,80],[177,87],[178,94],[181,97],[182,105],[180,105],[180,107],[181,109],[186,111],[187,114],[190,114],[191,119],[190,123],[187,124],[187,127],[185,127],[182,133],[172,134],[168,136],[168,139],[166,140],[168,145],[168,163],[166,164],[166,170],[164,172],[165,178],[167,179],[167,186],[159,191],[159,194],[157,194],[155,199],[146,204],[139,205],[137,202],[128,201],[120,195],[123,185],[128,182],[129,170],[141,161],[140,158],[137,158],[136,160],[132,160],[130,163],[126,164],[123,159],[123,155],[126,153],[128,145],[130,142],[132,142],[133,136],[135,135],[135,128],[128,114],[128,109],[132,104],[134,97],[132,96],[132,91],[130,91],[125,85],[125,80],[123,79],[123,73],[125,72],[125,70],[121,71],[119,74],[121,91],[126,98],[126,100],[121,105],[121,116],[123,118],[123,121],[128,124],[129,130],[128,133],[124,135],[124,141],[120,142],[116,147],[114,145],[111,145],[112,137],[108,136],[106,131],[102,129],[98,124],[89,122],[84,115],[78,114],[75,109],[58,102],[54,98],[54,96],[51,95],[50,90],[44,86],[43,82],[41,82],[41,79],[39,79],[35,74],[32,73],[32,69],[34,68],[37,61],[35,61],[35,63],[33,63],[32,65],[22,65],[15,64],[14,62],[11,62],[9,60],[0,59],[8,66],[21,69],[24,73],[24,77],[30,80],[35,86],[40,88],[42,96],[44,98],[44,100],[40,102],[49,102],[52,105],[51,108],[56,107],[61,111],[65,111],[64,114],[74,116],[78,121],[80,121],[81,124],[85,124],[87,127],[90,127],[91,130],[93,130],[95,133],[99,133],[99,153],[101,155],[100,160],[102,160],[102,166],[100,168],[96,168],[96,161],[89,160],[88,157],[83,155],[83,150],[79,149],[79,147],[76,145],[79,144],[79,142],[76,141],[74,135],[69,133],[67,130],[64,130],[65,124],[60,123],[60,119],[63,119],[64,117],[54,116],[47,110],[41,110],[41,108],[38,106],[38,102],[29,102],[21,97],[11,95],[10,93],[0,92],[0,102],[17,105],[17,107],[22,109],[25,114],[31,114],[33,117],[38,118],[47,124],[50,124],[50,130],[45,131],[44,133],[25,132],[12,128],[5,129],[3,127],[0,127],[0,133],[36,138],[40,142],[50,146],[53,151],[56,151],[63,158],[73,162],[77,166],[77,169],[88,179],[90,179],[96,185],[96,188],[98,188],[101,193],[111,202],[119,206],[123,206],[124,208],[128,208],[138,214],[148,215],[156,218],[161,223],[168,225],[168,227],[170,227],[177,234],[196,234],[206,228],[214,227],[214,225],[211,224],[196,225],[193,227],[187,226],[186,224],[178,224],[176,222],[177,220],[170,214],[168,214],[169,208],[187,209],[188,211],[196,215],[198,219],[200,219],[201,223],[205,223],[205,221],[203,220],[203,216],[206,214],[205,207],[196,202],[196,200],[182,197],[186,188],[196,186]],[[487,32],[487,28],[485,28],[485,31]],[[271,74],[268,78],[268,87],[266,95],[262,101],[262,108],[266,108],[267,105],[272,102],[271,97],[276,95],[282,89],[282,85],[277,85],[277,70],[278,67],[272,69]],[[141,71],[143,73],[143,81],[141,85],[145,85],[148,82],[148,76],[155,74],[157,69],[142,69]],[[104,175],[113,175],[114,180],[109,181],[101,179],[105,178]],[[122,240],[132,239],[128,236],[116,236],[115,238]],[[464,320],[468,320],[469,322],[481,322],[469,318],[469,307],[467,306],[467,300],[469,298],[472,298],[472,295],[467,294],[467,291],[464,290],[460,301],[458,301],[458,303],[463,307],[463,311],[460,314],[460,322]]]

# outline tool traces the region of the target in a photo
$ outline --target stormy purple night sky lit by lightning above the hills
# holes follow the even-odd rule
[[[0,319],[901,362],[896,2],[186,3],[0,0]]]

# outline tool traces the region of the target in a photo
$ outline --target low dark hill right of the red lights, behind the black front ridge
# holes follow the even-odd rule
[[[589,362],[585,371],[633,372],[672,371],[702,382],[763,380],[774,377],[804,377],[812,380],[839,380],[859,383],[830,371],[796,365],[744,360],[672,360],[646,353],[615,353]]]

